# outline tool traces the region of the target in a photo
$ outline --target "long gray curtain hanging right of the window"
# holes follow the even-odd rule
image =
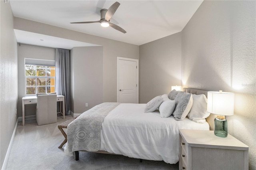
[[[56,85],[57,95],[65,96],[65,115],[70,110],[70,55],[68,49],[56,48]]]

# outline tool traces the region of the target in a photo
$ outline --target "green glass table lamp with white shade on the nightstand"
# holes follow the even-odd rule
[[[214,134],[219,137],[228,136],[228,121],[225,116],[234,115],[234,93],[208,91],[207,111],[216,116]]]

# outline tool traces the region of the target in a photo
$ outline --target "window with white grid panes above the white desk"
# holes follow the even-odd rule
[[[55,91],[55,66],[25,64],[26,95]]]

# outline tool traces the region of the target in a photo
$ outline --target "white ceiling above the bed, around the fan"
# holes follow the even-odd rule
[[[122,27],[126,30],[126,34],[111,27],[103,28],[100,23],[70,24],[70,22],[100,20],[100,10],[108,9],[116,2],[113,0],[10,0],[10,4],[15,17],[142,45],[182,31],[202,1],[118,0],[120,6],[110,22]],[[26,36],[22,35],[22,32],[16,31],[15,33],[18,42],[22,40],[22,43],[33,43],[29,42],[31,38],[29,38],[28,32],[26,32]],[[38,36],[34,38],[42,39],[40,34]],[[58,40],[52,40],[52,42],[56,41]],[[91,46],[92,44],[86,45]]]

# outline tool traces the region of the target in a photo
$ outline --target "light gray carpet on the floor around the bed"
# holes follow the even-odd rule
[[[80,152],[79,160],[66,156],[58,146],[64,136],[58,129],[63,120],[38,126],[36,121],[19,123],[12,144],[8,170],[178,170],[177,164],[129,158],[122,155]],[[66,129],[65,129],[66,130]]]

